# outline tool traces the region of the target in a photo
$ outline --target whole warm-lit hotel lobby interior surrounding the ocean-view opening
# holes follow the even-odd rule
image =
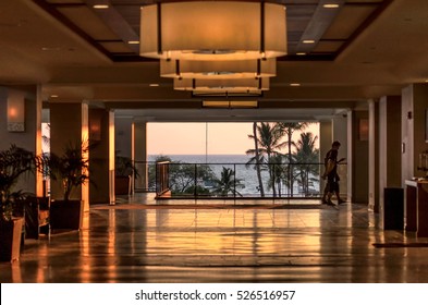
[[[51,152],[97,145],[96,186],[73,194],[80,228],[24,232],[0,282],[427,283],[427,12],[425,0],[1,1],[0,150],[42,154],[46,124]],[[154,122],[316,122],[320,164],[342,144],[346,203],[159,199],[144,166],[118,195],[114,158],[147,163]],[[40,174],[16,187],[47,196]]]

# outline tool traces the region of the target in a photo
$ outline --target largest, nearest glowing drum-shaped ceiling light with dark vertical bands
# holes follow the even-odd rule
[[[243,60],[286,54],[285,7],[265,1],[179,1],[142,8],[140,56]]]

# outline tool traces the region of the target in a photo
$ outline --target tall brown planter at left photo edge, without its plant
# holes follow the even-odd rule
[[[24,218],[0,220],[0,260],[13,261],[20,259],[21,235]]]

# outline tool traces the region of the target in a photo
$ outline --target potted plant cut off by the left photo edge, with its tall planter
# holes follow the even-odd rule
[[[16,145],[0,151],[0,260],[2,261],[15,260],[20,257],[24,223],[21,203],[26,194],[15,191],[14,187],[22,175],[35,170],[35,160],[33,152]]]

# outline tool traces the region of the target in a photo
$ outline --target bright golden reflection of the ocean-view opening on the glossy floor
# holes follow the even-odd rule
[[[301,217],[301,212],[273,209],[150,210],[147,211],[147,247],[156,253],[171,249],[175,255],[278,254],[298,244],[318,251],[319,245],[315,243],[318,235],[283,234],[283,229],[320,225],[318,211],[310,215],[305,210],[305,217]]]

